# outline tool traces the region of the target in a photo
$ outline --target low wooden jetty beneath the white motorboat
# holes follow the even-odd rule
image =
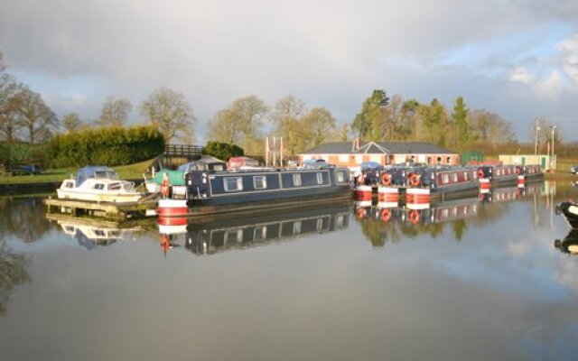
[[[114,203],[94,202],[78,199],[44,199],[48,214],[65,213],[73,217],[91,216],[124,220],[155,216],[156,199],[145,199],[138,202]]]

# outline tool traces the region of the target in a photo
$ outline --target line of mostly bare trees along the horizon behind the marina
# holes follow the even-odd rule
[[[133,104],[123,97],[107,97],[98,119],[81,119],[70,113],[58,119],[41,95],[33,92],[5,72],[0,53],[0,141],[5,143],[46,143],[59,132],[77,132],[92,127],[124,127]],[[138,106],[143,120],[163,134],[167,143],[191,143],[196,117],[182,93],[171,88],[157,88]],[[539,150],[545,152],[549,125],[541,118],[531,129]],[[274,105],[255,95],[240,97],[211,116],[207,139],[241,146],[245,153],[265,153],[265,136],[283,137],[284,153],[294,155],[327,142],[417,141],[440,145],[452,151],[486,150],[516,146],[512,125],[486,109],[471,110],[463,97],[457,97],[448,109],[434,98],[430,103],[389,97],[383,89],[373,90],[350,124],[338,124],[331,111],[323,106],[311,109],[294,96],[278,99]],[[530,139],[533,139],[531,136]],[[559,143],[560,129],[555,141]]]

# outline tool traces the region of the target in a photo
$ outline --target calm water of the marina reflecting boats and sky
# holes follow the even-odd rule
[[[0,359],[576,359],[568,198],[541,183],[124,229],[0,198]]]

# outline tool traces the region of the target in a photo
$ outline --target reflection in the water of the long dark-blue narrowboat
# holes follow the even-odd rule
[[[317,208],[294,208],[243,218],[159,218],[163,252],[184,246],[195,255],[270,245],[349,226],[350,202]],[[168,222],[172,222],[169,224]]]

